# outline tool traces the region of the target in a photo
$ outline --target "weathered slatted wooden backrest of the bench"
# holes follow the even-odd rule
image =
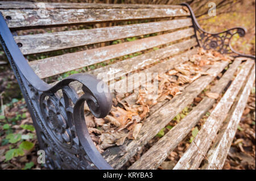
[[[1,2],[0,12],[40,78],[120,57],[137,56],[131,66],[138,65],[155,52],[128,73],[197,45],[189,11],[178,5]],[[33,54],[42,59],[31,61]]]

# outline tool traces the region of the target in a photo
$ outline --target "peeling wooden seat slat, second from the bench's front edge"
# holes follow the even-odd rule
[[[253,60],[247,60],[246,64],[243,65],[243,68],[240,70],[229,89],[225,92],[220,102],[218,102],[207,121],[205,121],[199,133],[197,133],[195,140],[193,140],[187,151],[185,151],[175,165],[175,170],[198,169],[253,64]]]

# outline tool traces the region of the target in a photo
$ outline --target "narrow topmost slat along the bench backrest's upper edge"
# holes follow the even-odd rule
[[[47,9],[181,9],[180,5],[125,5],[125,4],[106,4],[106,3],[47,3],[44,2]],[[40,2],[16,2],[2,1],[0,9],[40,9]]]

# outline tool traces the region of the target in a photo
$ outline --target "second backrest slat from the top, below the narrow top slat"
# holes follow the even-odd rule
[[[37,9],[0,10],[7,20],[9,28],[53,26],[60,24],[77,24],[92,22],[109,22],[131,19],[165,18],[188,16],[189,13],[180,8],[155,9]]]

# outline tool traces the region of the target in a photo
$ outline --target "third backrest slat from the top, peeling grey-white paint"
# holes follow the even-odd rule
[[[20,50],[23,54],[32,54],[124,39],[188,26],[192,26],[190,18],[88,30],[15,36],[14,39],[16,43],[22,44]]]

